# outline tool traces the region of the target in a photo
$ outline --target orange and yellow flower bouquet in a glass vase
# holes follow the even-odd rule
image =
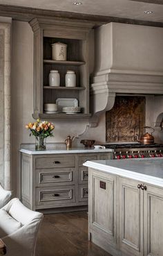
[[[30,136],[34,135],[36,138],[35,149],[39,151],[45,150],[46,144],[44,142],[44,139],[49,136],[53,136],[52,130],[55,129],[54,124],[48,121],[40,121],[40,119],[37,119],[35,123],[26,124],[26,128],[30,130]]]

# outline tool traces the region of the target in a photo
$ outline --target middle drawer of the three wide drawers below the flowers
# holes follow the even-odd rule
[[[36,185],[37,187],[45,187],[48,185],[71,185],[74,183],[73,168],[61,169],[37,169],[36,170]]]

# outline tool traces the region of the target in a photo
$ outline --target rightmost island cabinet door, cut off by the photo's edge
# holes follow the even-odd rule
[[[144,191],[144,256],[163,255],[163,189],[146,185]]]

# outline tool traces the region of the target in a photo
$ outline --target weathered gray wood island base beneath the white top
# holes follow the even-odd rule
[[[89,169],[88,194],[91,241],[116,256],[163,255],[162,187]]]

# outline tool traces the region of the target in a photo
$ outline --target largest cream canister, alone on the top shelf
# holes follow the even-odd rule
[[[67,44],[57,42],[51,45],[52,45],[52,60],[66,60]]]

